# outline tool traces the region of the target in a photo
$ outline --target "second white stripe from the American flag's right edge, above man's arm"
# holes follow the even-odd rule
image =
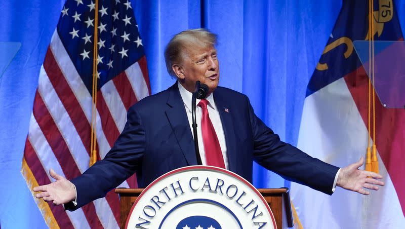
[[[119,96],[117,89],[115,88],[112,80],[108,81],[101,87],[101,94],[104,97],[104,101],[110,110],[112,119],[115,122],[115,126],[118,132],[124,130],[125,123],[127,122],[127,109],[124,106],[121,97]]]

